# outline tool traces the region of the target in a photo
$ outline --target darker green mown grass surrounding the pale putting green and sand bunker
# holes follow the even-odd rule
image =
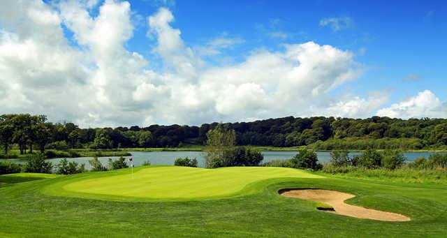
[[[118,202],[45,193],[48,186],[95,174],[116,175],[92,172],[1,187],[0,237],[445,237],[447,230],[447,188],[436,184],[328,175],[258,180],[243,189],[245,195],[211,200]],[[404,214],[411,221],[371,221],[317,211],[315,202],[279,195],[283,188],[351,193],[356,195],[347,200],[351,204]]]

